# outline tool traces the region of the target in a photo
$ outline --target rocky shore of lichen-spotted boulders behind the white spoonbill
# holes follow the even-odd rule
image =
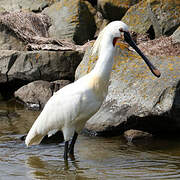
[[[91,71],[100,30],[122,20],[162,76],[153,77],[118,41],[108,96],[84,132],[180,130],[179,1],[2,0],[0,13],[0,100],[16,98],[41,110],[55,91]]]

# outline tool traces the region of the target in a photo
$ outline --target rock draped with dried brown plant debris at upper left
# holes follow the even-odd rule
[[[50,38],[50,18],[42,13],[11,12],[0,17],[2,50],[75,50],[77,45]]]

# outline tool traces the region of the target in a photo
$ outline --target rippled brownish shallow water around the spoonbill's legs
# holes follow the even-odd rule
[[[64,144],[27,148],[20,140],[38,114],[0,103],[0,180],[180,179],[180,138],[128,144],[122,137],[80,135],[76,160],[65,163]]]

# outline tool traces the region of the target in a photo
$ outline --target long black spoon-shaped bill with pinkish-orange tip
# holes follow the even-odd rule
[[[124,31],[124,40],[135,49],[135,51],[144,59],[145,63],[151,70],[151,72],[156,76],[160,77],[161,73],[160,71],[148,60],[148,58],[141,52],[141,50],[136,46],[135,42],[131,38],[131,35],[129,32]]]

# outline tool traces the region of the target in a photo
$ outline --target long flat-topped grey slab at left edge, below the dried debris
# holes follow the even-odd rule
[[[0,51],[0,92],[6,96],[35,80],[74,80],[82,59],[78,51]]]

